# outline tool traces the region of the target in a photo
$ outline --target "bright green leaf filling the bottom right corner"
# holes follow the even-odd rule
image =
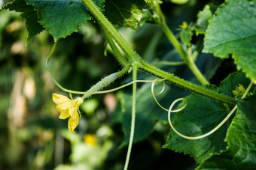
[[[254,169],[256,167],[256,96],[239,100],[227,130],[228,150],[206,160],[197,169]]]

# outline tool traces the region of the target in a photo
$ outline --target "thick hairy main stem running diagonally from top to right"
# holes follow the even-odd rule
[[[111,23],[108,21],[108,19],[105,18],[105,16],[100,12],[98,7],[96,7],[95,4],[93,4],[93,1],[91,0],[82,0],[84,4],[87,6],[87,9],[90,10],[91,13],[98,19],[99,23],[102,25],[102,27],[106,28],[108,30],[108,33],[111,34],[111,37],[114,39],[114,41],[120,46],[120,48],[126,52],[127,57],[130,59],[130,63],[137,63],[139,64],[139,67],[142,68],[142,70],[147,71],[148,73],[153,74],[154,76],[167,79],[169,82],[172,82],[175,85],[178,85],[181,88],[185,88],[189,91],[193,91],[197,94],[201,94],[203,96],[219,100],[224,103],[228,103],[230,105],[236,105],[236,100],[234,100],[231,97],[224,96],[223,94],[218,94],[215,91],[208,90],[206,88],[200,87],[198,85],[194,85],[193,83],[186,82],[183,79],[180,79],[173,74],[166,73],[163,70],[158,69],[157,67],[151,66],[150,64],[146,63],[142,60],[142,58],[139,57],[139,55],[136,54],[136,52],[133,51],[133,49],[130,47],[128,43],[126,43],[126,40],[123,39],[123,37],[118,33],[118,31],[111,25]],[[169,29],[169,28],[168,28]]]

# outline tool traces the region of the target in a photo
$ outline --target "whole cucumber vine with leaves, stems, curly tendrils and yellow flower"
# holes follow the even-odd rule
[[[180,35],[181,42],[167,25],[165,13],[161,9],[161,4],[165,3],[164,1],[62,1],[61,3],[65,4],[65,7],[63,6],[62,9],[59,9],[59,13],[66,13],[67,15],[70,15],[70,17],[74,19],[73,23],[69,22],[69,20],[66,20],[64,16],[58,16],[58,18],[58,11],[56,11],[56,13],[54,14],[52,13],[53,11],[49,11],[49,9],[56,10],[56,8],[55,4],[51,4],[55,2],[48,3],[49,4],[45,4],[44,1],[38,2],[35,0],[15,0],[12,3],[6,4],[4,7],[1,7],[1,9],[10,9],[21,12],[21,16],[26,19],[26,26],[28,30],[31,30],[33,26],[37,28],[35,29],[35,32],[29,31],[27,43],[29,43],[29,41],[32,39],[32,36],[35,36],[35,34],[38,34],[43,29],[47,29],[47,31],[49,31],[49,33],[53,35],[55,43],[53,44],[53,47],[50,50],[50,54],[47,57],[46,68],[50,73],[50,76],[52,77],[55,85],[62,91],[70,94],[71,99],[62,96],[61,94],[53,94],[53,102],[56,103],[56,109],[60,112],[59,118],[69,118],[68,127],[70,132],[75,132],[74,130],[78,126],[79,118],[81,117],[79,106],[81,106],[84,100],[87,100],[87,98],[91,97],[93,94],[111,93],[112,91],[118,91],[129,85],[133,85],[133,93],[131,98],[132,103],[130,138],[126,153],[126,161],[123,166],[123,169],[128,169],[130,157],[132,155],[132,146],[136,135],[136,108],[139,107],[138,85],[139,83],[149,82],[151,83],[152,98],[155,104],[159,106],[160,109],[163,109],[163,114],[166,114],[166,123],[169,122],[171,130],[169,133],[169,138],[167,139],[167,142],[163,146],[163,148],[170,148],[175,151],[182,151],[185,154],[191,154],[195,158],[195,160],[200,163],[198,169],[216,168],[209,165],[212,165],[211,163],[215,163],[218,158],[226,156],[231,157],[231,160],[233,159],[234,164],[236,166],[239,166],[239,168],[242,168],[239,163],[234,161],[239,160],[239,156],[233,153],[234,151],[238,151],[239,147],[245,147],[242,144],[241,146],[239,145],[239,147],[237,147],[237,145],[233,143],[233,141],[235,141],[233,139],[234,136],[232,136],[230,132],[233,132],[232,130],[236,129],[234,128],[236,127],[236,124],[240,123],[244,125],[244,123],[239,119],[240,117],[245,115],[249,117],[255,114],[255,110],[251,109],[251,112],[248,112],[245,107],[248,106],[249,102],[256,101],[256,88],[254,87],[256,79],[256,51],[255,46],[251,45],[251,42],[254,42],[254,37],[256,36],[255,29],[251,25],[251,23],[256,22],[255,0],[226,0],[224,4],[221,4],[221,6],[217,7],[216,11],[216,7],[212,7],[212,9],[210,10],[210,4],[206,4],[203,10],[198,13],[198,20],[196,24],[191,23],[187,25],[187,22],[183,22]],[[175,76],[175,73],[168,73],[165,70],[154,66],[154,62],[152,62],[153,64],[148,63],[148,61],[145,61],[142,57],[140,57],[139,54],[132,48],[132,46],[130,46],[130,44],[117,31],[116,26],[118,26],[118,24],[115,25],[116,22],[114,22],[113,18],[108,15],[109,11],[105,10],[110,7],[108,6],[110,5],[108,3],[116,4],[114,5],[114,7],[117,8],[116,10],[121,13],[120,17],[123,17],[125,20],[123,22],[130,22],[131,18],[135,20],[141,19],[141,16],[139,14],[142,15],[142,9],[143,7],[145,7],[147,10],[145,10],[144,12],[150,13],[148,16],[148,20],[154,22],[161,28],[166,38],[168,38],[169,43],[174,46],[174,49],[176,50],[176,52],[178,52],[179,57],[182,58],[182,61],[178,62],[158,61],[155,63],[155,65],[163,64],[168,65],[168,67],[173,67],[176,65],[184,64],[197,78],[201,86],[181,79],[178,76]],[[119,3],[126,3],[126,5],[128,6],[130,5],[130,18],[126,18],[125,14],[122,13],[122,7]],[[79,11],[79,15],[73,13],[73,7],[74,9],[77,9]],[[140,13],[138,14],[133,11],[133,7],[137,7],[136,11],[139,10]],[[241,7],[241,9],[239,7]],[[249,12],[242,13],[241,17],[237,16],[236,13],[230,13],[230,17],[232,19],[228,20],[226,16],[229,13],[227,11],[236,11],[236,8],[239,8],[239,10],[248,10]],[[214,12],[216,14],[212,15],[212,13]],[[73,13],[73,15],[70,13]],[[133,16],[133,13],[135,13],[136,16]],[[137,16],[140,16],[140,18],[136,18]],[[54,23],[52,23],[52,17],[56,17],[57,21],[53,21]],[[36,24],[32,25],[32,21],[35,21],[35,18]],[[87,91],[73,91],[64,88],[62,85],[59,84],[59,82],[56,81],[53,76],[53,72],[50,70],[49,62],[50,58],[52,58],[53,56],[54,49],[56,48],[59,39],[62,37],[66,37],[69,34],[72,34],[72,32],[74,31],[77,31],[79,25],[82,25],[88,19],[93,19],[93,21],[99,25],[99,28],[100,30],[102,30],[102,34],[104,35],[105,40],[108,42],[111,48],[111,52],[113,52],[114,57],[122,67],[122,70],[105,76]],[[61,23],[59,24],[61,26],[66,25],[66,28],[64,28],[63,30],[62,28],[59,28],[60,31],[56,31],[54,25],[58,22]],[[111,22],[114,22],[114,24],[112,24]],[[226,22],[230,25],[227,25]],[[242,28],[235,28],[234,23],[236,22],[239,22]],[[130,25],[130,27],[134,28],[134,24],[137,25],[138,22],[133,22],[132,24],[126,23],[123,25]],[[120,24],[119,26],[123,25]],[[220,29],[222,28],[224,28],[225,34],[221,34]],[[197,44],[192,45],[191,41],[193,35],[196,36],[198,34],[203,35],[198,37]],[[230,76],[227,76],[227,78],[224,79],[223,82],[221,82],[221,85],[219,87],[211,85],[209,79],[207,79],[203,75],[203,73],[196,64],[196,60],[198,58],[198,55],[200,55],[201,53],[202,46],[203,52],[211,52],[213,55],[216,55],[219,58],[232,57],[235,61],[234,63],[237,66],[237,70],[242,70],[244,73],[237,72],[230,74]],[[248,46],[248,51],[250,51],[250,54],[244,52],[245,46]],[[138,73],[140,70],[142,72],[149,73],[151,76],[154,76],[155,79],[138,79]],[[120,85],[117,88],[104,90],[109,85],[111,85],[112,82],[120,79],[127,74],[130,74],[131,72],[133,76],[133,81],[128,82],[124,85]],[[165,91],[166,89],[166,82],[169,82],[171,85],[178,86],[179,88],[182,88],[184,90],[190,91],[191,94],[187,97],[178,97],[178,99],[175,99],[171,103],[169,109],[166,109],[166,107],[163,106],[160,100],[157,100],[156,97],[157,94],[164,95],[163,91]],[[240,82],[242,85],[239,85]],[[163,88],[159,92],[157,92],[155,91],[155,87],[160,83],[163,84]],[[246,90],[244,87],[246,88]],[[254,88],[254,90],[251,90],[252,88]],[[72,94],[79,94],[83,96],[75,98],[73,100]],[[176,107],[176,109],[173,109],[178,102],[181,103]],[[197,108],[200,108],[198,110],[198,114],[196,110]],[[216,114],[216,120],[212,122],[210,122],[211,120],[206,120],[206,123],[202,121],[203,118],[207,119],[207,116],[203,115],[205,114],[205,112],[206,115],[209,114],[210,116],[215,116],[213,114]],[[176,114],[172,117],[171,113]],[[236,113],[236,115],[234,115],[234,113]],[[200,114],[202,115],[202,118],[199,118]],[[190,115],[191,119],[189,117]],[[197,122],[194,123],[193,119],[196,119]],[[248,121],[248,124],[255,125],[254,119],[255,118],[252,118],[251,120],[246,120]],[[183,125],[184,122],[187,123]],[[190,128],[190,130],[186,130],[187,124],[189,127],[193,128]],[[226,126],[223,126],[224,124]],[[252,132],[255,132],[253,125],[251,125],[251,130],[248,130],[248,133],[246,133],[245,135],[248,141],[254,141],[254,139],[251,139],[250,137],[250,134]],[[189,127],[187,127],[187,129],[189,129]],[[241,128],[241,130],[246,129],[245,127],[237,127],[237,129],[239,128]],[[223,135],[224,133],[225,135]],[[218,136],[219,139],[215,140],[214,135]],[[194,141],[197,142],[196,139],[202,143],[205,143],[205,145],[206,143],[211,142],[212,148],[203,148],[202,150],[198,149],[197,145],[193,143]],[[179,142],[181,143],[181,145],[184,144],[184,148],[182,148],[183,146],[181,147],[181,145],[178,144]],[[221,142],[221,144],[218,144],[218,142]],[[245,141],[242,141],[240,143],[243,142]],[[193,147],[191,147],[191,145],[193,145]],[[252,150],[256,151],[255,148],[256,146],[253,145]],[[246,154],[247,152],[250,151],[244,151],[244,153]],[[246,167],[253,167],[253,165],[256,165],[255,160],[250,161],[248,163],[249,166],[246,164]],[[224,164],[225,163],[218,166],[218,168],[226,169],[227,167],[224,166]]]

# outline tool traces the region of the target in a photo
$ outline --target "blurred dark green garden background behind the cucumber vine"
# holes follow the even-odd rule
[[[6,2],[1,1],[2,4]],[[194,22],[198,10],[209,3],[164,2],[163,12],[177,35],[182,22]],[[119,31],[146,61],[181,60],[157,25],[145,23],[137,31],[130,28],[120,28]],[[70,133],[67,120],[58,119],[59,113],[51,97],[53,92],[65,93],[53,84],[44,66],[53,38],[43,31],[25,46],[26,34],[19,13],[0,10],[0,169],[123,169],[126,145],[120,147],[125,136],[120,121],[120,96],[121,93],[130,94],[131,87],[123,92],[95,95],[85,100],[76,133]],[[212,55],[200,55],[199,58],[197,64],[201,69],[218,71],[216,66],[221,61]],[[215,63],[214,67],[209,63]],[[108,51],[105,38],[95,22],[87,22],[77,33],[59,40],[50,68],[62,86],[77,91],[86,91],[102,77],[121,69]],[[197,83],[184,65],[162,68]],[[214,73],[205,75],[212,77],[211,81],[216,85],[221,81],[215,79]],[[145,78],[148,75],[141,73],[140,76]],[[118,79],[110,88],[130,81],[128,76],[126,79]],[[182,96],[188,94],[179,91]],[[150,91],[148,96],[151,96]],[[171,103],[166,97],[164,100],[166,105]],[[139,103],[138,107],[147,107],[147,103]],[[133,145],[130,169],[197,167],[193,158],[162,149],[168,133],[169,126],[164,118],[156,121],[153,132]]]

